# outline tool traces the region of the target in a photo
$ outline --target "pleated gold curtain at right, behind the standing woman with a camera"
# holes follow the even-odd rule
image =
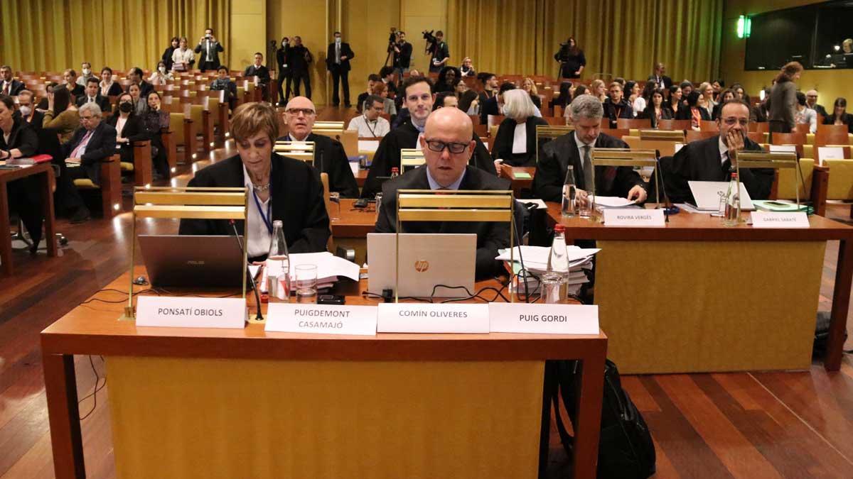
[[[645,80],[663,61],[674,82],[719,72],[722,0],[448,0],[452,64],[480,72],[556,76],[569,36],[583,49],[583,78]]]

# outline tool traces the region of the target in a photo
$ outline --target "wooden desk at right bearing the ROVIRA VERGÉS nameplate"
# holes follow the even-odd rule
[[[746,216],[746,214],[745,214]],[[725,228],[681,212],[665,228],[548,221],[566,241],[596,240],[595,302],[609,355],[627,372],[804,369],[811,363],[826,242],[840,240],[824,366],[837,371],[853,278],[853,228],[809,216],[810,228]]]

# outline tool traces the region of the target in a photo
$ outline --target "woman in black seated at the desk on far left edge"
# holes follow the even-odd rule
[[[38,151],[38,134],[30,124],[15,115],[15,101],[9,95],[0,95],[0,161],[31,157]],[[5,194],[12,211],[17,211],[30,232],[33,245],[30,253],[35,254],[42,240],[41,193],[37,180],[22,178],[5,184]],[[3,212],[7,214],[7,212]],[[3,234],[9,234],[9,230]]]

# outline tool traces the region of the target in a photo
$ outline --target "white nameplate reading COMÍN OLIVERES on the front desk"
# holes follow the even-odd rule
[[[377,332],[489,332],[488,304],[380,303]]]

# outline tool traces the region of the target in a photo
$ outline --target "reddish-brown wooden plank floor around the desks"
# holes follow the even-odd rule
[[[189,168],[183,170],[188,173],[177,184],[189,179]],[[0,479],[53,477],[38,332],[125,270],[128,216],[83,225],[61,220],[58,230],[69,243],[60,258],[44,250],[34,258],[18,251],[15,276],[0,278]],[[849,222],[850,208],[832,206],[829,216]],[[837,254],[838,244],[830,243],[821,310],[829,309]],[[96,373],[103,378],[104,367],[99,357],[90,363],[78,356],[76,364],[83,398],[94,389]],[[655,477],[853,477],[849,355],[833,374],[815,364],[804,372],[629,376],[623,383],[653,432]],[[81,414],[93,410],[82,421],[93,478],[115,476],[106,398],[104,389],[80,404]],[[552,447],[559,452],[555,431]],[[559,456],[552,469],[555,477],[565,469]]]

